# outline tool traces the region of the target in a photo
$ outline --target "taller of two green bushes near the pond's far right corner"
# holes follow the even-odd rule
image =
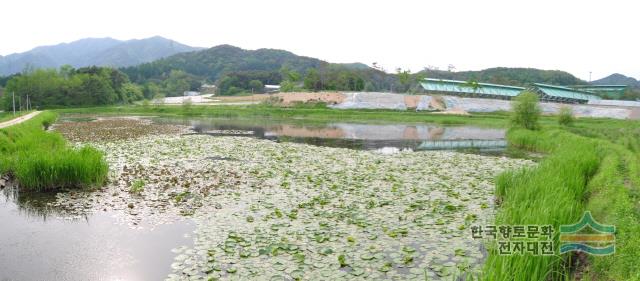
[[[513,115],[511,124],[514,127],[522,127],[528,130],[539,128],[540,106],[538,105],[538,95],[525,91],[518,95],[512,104]]]

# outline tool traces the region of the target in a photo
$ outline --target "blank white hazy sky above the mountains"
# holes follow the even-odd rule
[[[640,2],[4,0],[0,55],[85,37],[278,48],[387,70],[495,66],[640,78]]]

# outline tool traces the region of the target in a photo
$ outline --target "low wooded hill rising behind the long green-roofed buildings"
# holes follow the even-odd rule
[[[474,80],[477,82],[494,83],[513,86],[526,86],[530,83],[545,83],[552,85],[582,85],[587,84],[572,74],[560,70],[542,70],[535,68],[496,67],[478,71],[421,71],[427,78]]]

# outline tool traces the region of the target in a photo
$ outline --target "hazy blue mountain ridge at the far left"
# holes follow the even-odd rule
[[[199,49],[159,36],[128,41],[86,38],[0,57],[0,75],[18,73],[27,67],[57,68],[65,64],[73,67],[131,66]]]

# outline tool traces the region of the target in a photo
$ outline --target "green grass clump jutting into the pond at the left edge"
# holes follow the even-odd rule
[[[102,153],[74,149],[60,134],[45,131],[56,117],[45,111],[0,129],[0,174],[12,174],[22,187],[37,191],[102,184],[108,171]]]

